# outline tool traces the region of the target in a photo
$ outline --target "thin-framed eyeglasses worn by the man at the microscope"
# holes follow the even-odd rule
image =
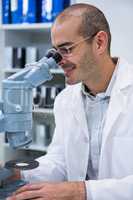
[[[67,46],[63,46],[63,47],[59,47],[59,48],[55,48],[57,52],[59,52],[63,57],[68,57],[72,55],[72,51],[74,48],[76,48],[79,44],[81,44],[82,42],[86,41],[86,40],[90,40],[92,39],[95,35],[97,34],[94,33],[91,36],[88,36],[78,42],[76,42],[75,44],[72,44],[71,46],[67,47]]]

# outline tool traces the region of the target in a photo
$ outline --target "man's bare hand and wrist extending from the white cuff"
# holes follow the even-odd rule
[[[85,200],[84,182],[27,184],[7,200]]]

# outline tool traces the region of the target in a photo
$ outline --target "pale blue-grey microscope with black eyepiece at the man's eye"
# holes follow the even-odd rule
[[[32,90],[52,79],[50,69],[57,68],[61,59],[61,55],[51,49],[41,60],[26,64],[23,70],[2,82],[0,132],[6,133],[12,148],[17,149],[31,143]],[[33,163],[32,169],[38,166],[37,161],[30,161],[30,164]],[[8,197],[16,189],[26,184],[24,180],[8,181],[13,174],[13,170],[10,168],[11,164],[12,161],[9,161],[4,167],[0,167],[0,199]],[[20,165],[23,165],[23,168],[27,169],[28,164],[21,161],[21,163],[16,163],[16,166],[19,168]]]

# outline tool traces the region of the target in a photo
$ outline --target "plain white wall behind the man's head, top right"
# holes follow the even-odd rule
[[[107,17],[112,33],[112,55],[133,63],[133,0],[76,0],[100,8]]]

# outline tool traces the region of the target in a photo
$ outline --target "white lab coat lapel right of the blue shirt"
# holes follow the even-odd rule
[[[128,103],[125,90],[133,84],[132,66],[128,65],[124,60],[120,60],[117,71],[116,82],[112,89],[109,107],[107,110],[105,126],[103,130],[103,144],[106,142],[114,123],[117,121],[119,115],[122,113],[123,108]]]

